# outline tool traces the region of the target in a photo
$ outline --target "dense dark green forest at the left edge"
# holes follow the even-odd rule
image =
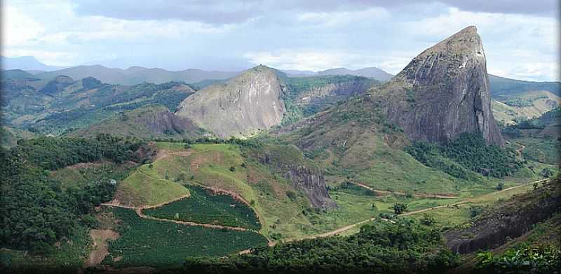
[[[49,170],[98,160],[143,161],[148,151],[149,147],[138,140],[108,135],[93,139],[41,137],[18,140],[10,150],[1,148],[1,246],[48,253],[77,226],[95,226],[88,213],[109,201],[116,190],[110,180],[62,189],[60,182],[49,177]]]

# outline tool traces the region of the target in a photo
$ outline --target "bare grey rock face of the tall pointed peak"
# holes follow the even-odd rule
[[[472,132],[487,144],[504,143],[491,110],[485,52],[473,26],[428,48],[369,95],[411,140],[447,143]]]

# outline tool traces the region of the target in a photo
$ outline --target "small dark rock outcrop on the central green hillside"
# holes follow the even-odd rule
[[[337,203],[327,193],[322,173],[314,172],[305,166],[290,166],[285,177],[292,182],[295,189],[304,192],[314,208],[337,208]]]

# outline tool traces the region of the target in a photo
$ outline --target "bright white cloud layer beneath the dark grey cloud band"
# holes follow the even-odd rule
[[[251,13],[252,19],[243,23],[205,24],[77,15],[70,0],[12,0],[3,6],[2,54],[34,55],[46,64],[65,66],[119,59],[128,60],[126,65],[224,69],[226,62],[216,60],[229,59],[278,69],[377,66],[398,73],[424,49],[475,24],[489,72],[559,79],[554,17],[467,12],[440,4],[359,9],[337,3],[308,9],[288,5]],[[219,11],[231,8],[224,5],[217,6]]]

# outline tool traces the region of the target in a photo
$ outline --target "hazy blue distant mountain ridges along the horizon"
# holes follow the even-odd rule
[[[101,65],[74,66],[62,68],[48,66],[32,56],[24,57],[1,57],[2,78],[25,79],[53,79],[59,75],[67,75],[74,79],[87,77],[96,78],[102,82],[114,85],[137,85],[142,82],[161,84],[164,82],[178,81],[195,83],[201,81],[227,80],[240,75],[243,71],[203,71],[201,69],[186,69],[184,71],[168,71],[165,69],[148,69],[142,66],[131,66],[128,69],[107,68]],[[381,69],[370,67],[364,69],[327,69],[325,71],[299,71],[282,70],[288,77],[313,77],[325,75],[355,75],[374,78],[386,82],[393,75]],[[548,91],[561,96],[561,82],[531,82],[514,80],[489,74],[490,89],[492,96],[516,94],[527,91]]]

